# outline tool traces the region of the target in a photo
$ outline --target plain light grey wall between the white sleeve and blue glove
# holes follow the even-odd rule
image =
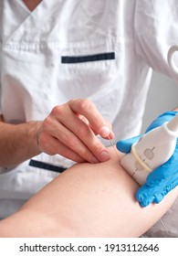
[[[178,107],[178,83],[162,74],[153,72],[141,133],[162,112]]]

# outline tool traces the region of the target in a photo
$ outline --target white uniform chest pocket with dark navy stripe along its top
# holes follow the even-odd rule
[[[90,98],[109,90],[117,74],[117,50],[112,41],[82,42],[63,48],[58,59],[58,84],[72,98]]]

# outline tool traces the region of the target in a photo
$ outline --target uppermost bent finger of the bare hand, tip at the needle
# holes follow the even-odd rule
[[[89,120],[89,124],[93,131],[99,134],[103,138],[113,138],[113,133],[110,131],[110,127],[107,126],[107,122],[99,113],[95,105],[87,99],[71,100],[69,101],[69,107],[73,112],[82,114]]]

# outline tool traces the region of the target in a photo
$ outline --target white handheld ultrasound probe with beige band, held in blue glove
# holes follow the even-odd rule
[[[120,165],[142,186],[146,177],[173,155],[178,137],[178,114],[170,122],[152,129],[132,144],[131,153],[124,155]]]

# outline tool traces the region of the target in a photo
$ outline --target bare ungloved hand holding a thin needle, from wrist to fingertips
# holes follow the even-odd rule
[[[107,123],[89,100],[71,100],[56,106],[37,132],[37,142],[48,155],[63,155],[75,162],[99,163],[110,159],[97,135],[113,138]]]

